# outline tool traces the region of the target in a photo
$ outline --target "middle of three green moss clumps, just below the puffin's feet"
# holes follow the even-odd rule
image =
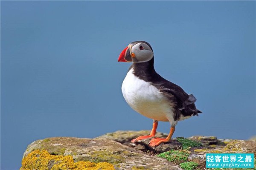
[[[186,150],[169,150],[167,152],[163,152],[158,154],[157,156],[167,159],[171,162],[180,162],[186,161],[189,157],[189,152]]]

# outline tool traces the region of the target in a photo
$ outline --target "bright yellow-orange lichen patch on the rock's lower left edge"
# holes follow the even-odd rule
[[[46,150],[34,150],[22,159],[20,170],[114,170],[108,162],[74,162],[72,156],[51,155]]]

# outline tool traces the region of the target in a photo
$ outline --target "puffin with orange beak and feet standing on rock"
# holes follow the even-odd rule
[[[122,82],[125,101],[138,113],[153,119],[151,133],[131,142],[154,137],[149,146],[169,142],[180,120],[202,113],[195,106],[196,98],[178,85],[164,79],[154,69],[154,52],[145,41],[131,42],[119,55],[118,62],[133,62]],[[155,137],[158,121],[170,122],[166,138]]]

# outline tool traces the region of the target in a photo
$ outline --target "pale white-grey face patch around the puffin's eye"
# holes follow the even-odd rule
[[[147,62],[149,60],[151,60],[154,56],[153,51],[151,50],[151,48],[143,43],[137,43],[135,44],[132,48],[131,48],[131,53],[135,54],[135,58],[133,62],[137,63],[137,62]]]

